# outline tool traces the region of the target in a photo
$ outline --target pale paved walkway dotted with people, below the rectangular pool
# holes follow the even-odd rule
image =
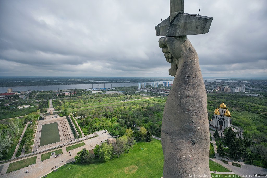
[[[105,130],[101,130],[99,132],[96,132],[97,135],[99,135],[99,137],[95,137],[92,139],[88,139],[88,140],[84,140],[85,145],[83,147],[85,147],[88,150],[93,149],[96,144],[101,144],[103,143],[105,140],[112,138],[111,135],[109,135],[108,133],[105,133]],[[92,134],[95,135],[95,134]],[[84,138],[84,137],[83,137]],[[80,138],[83,139],[83,138]],[[10,163],[16,162],[18,160],[13,160],[10,161],[8,163],[3,164],[4,167],[1,171],[1,173],[3,175],[1,175],[1,177],[13,177],[13,178],[39,178],[42,176],[45,176],[46,174],[52,172],[52,167],[60,167],[66,163],[70,163],[72,161],[74,161],[74,156],[76,156],[77,152],[82,150],[83,147],[79,147],[76,149],[71,150],[71,153],[69,154],[69,152],[66,151],[66,147],[64,146],[62,147],[62,154],[61,156],[58,156],[56,158],[53,158],[52,156],[50,157],[50,159],[44,160],[41,162],[41,155],[44,153],[40,153],[40,154],[36,154],[30,157],[34,157],[37,156],[37,160],[36,160],[36,164],[34,165],[29,165],[28,167],[25,168],[21,168],[18,171],[14,171],[14,172],[10,172],[6,174],[7,168],[9,167]],[[59,148],[60,149],[60,148]],[[51,151],[47,151],[47,152],[51,152]],[[66,159],[64,159],[66,157]],[[28,157],[29,158],[29,157]],[[23,158],[26,159],[26,158]],[[20,160],[23,160],[20,159]],[[63,163],[61,163],[61,161],[63,161]],[[0,165],[1,166],[1,165]],[[25,173],[25,171],[28,169],[29,173]]]

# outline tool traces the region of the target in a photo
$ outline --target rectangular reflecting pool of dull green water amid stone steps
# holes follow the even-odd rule
[[[60,135],[57,122],[42,125],[39,147],[58,141],[60,141]]]

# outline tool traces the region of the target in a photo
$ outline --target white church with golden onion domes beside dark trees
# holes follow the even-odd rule
[[[225,129],[230,127],[231,113],[222,102],[218,108],[214,110],[210,125],[214,128]]]

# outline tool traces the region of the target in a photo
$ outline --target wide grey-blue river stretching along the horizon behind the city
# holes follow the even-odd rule
[[[207,80],[207,82],[214,82],[214,81],[221,81],[221,80],[215,80],[216,78],[204,78],[204,81]],[[221,78],[221,79],[226,79],[226,78]],[[155,81],[159,82],[159,84],[163,84],[163,81]],[[173,83],[173,80],[169,81],[170,84]],[[146,82],[150,84],[151,82]],[[98,85],[98,86],[97,86]],[[105,83],[105,88],[110,88],[112,87],[120,87],[120,86],[138,86],[138,83],[112,83],[112,84],[107,84]],[[67,89],[88,89],[92,88],[92,84],[79,84],[79,85],[44,85],[44,86],[13,86],[13,87],[0,87],[0,93],[5,93],[7,92],[8,88],[12,88],[13,91],[27,91],[27,90],[38,90],[38,91],[50,91],[50,90],[67,90]],[[93,88],[104,88],[104,83],[103,84],[93,84]]]

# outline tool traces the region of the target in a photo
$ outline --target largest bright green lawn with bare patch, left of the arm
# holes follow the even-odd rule
[[[161,142],[153,139],[151,142],[137,143],[129,153],[106,163],[96,160],[89,165],[67,165],[48,174],[48,177],[162,177],[163,151]]]

